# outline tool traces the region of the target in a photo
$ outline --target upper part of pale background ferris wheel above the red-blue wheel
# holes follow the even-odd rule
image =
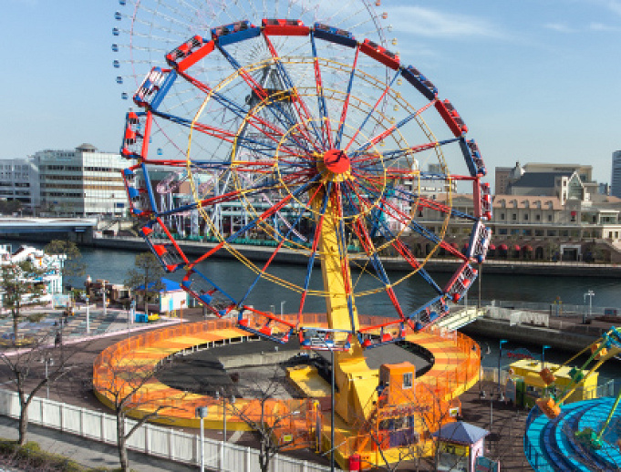
[[[321,22],[367,37],[381,46],[388,46],[388,42],[396,46],[397,39],[388,38],[392,26],[388,25],[388,13],[382,11],[381,5],[382,0],[119,0],[119,9],[114,13],[118,23],[112,29],[112,50],[119,53],[113,67],[121,97],[130,98],[151,67],[167,67],[165,55],[189,37],[214,25],[243,19],[298,18],[306,25]],[[254,60],[266,58],[264,51],[263,56],[256,56],[254,50],[247,54]],[[225,64],[213,61],[211,78],[218,77],[223,70]]]

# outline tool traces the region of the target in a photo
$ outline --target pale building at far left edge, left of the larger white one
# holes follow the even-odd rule
[[[39,174],[29,159],[0,161],[0,199],[17,200],[34,213],[40,204]]]

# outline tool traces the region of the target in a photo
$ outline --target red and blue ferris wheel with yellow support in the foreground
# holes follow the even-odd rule
[[[490,188],[459,113],[416,67],[340,27],[299,19],[212,24],[164,56],[167,66],[152,67],[133,96],[140,111],[127,114],[124,179],[142,236],[167,271],[184,272],[181,286],[198,303],[276,343],[297,333],[304,347],[356,352],[422,330],[460,301],[489,245]],[[217,69],[218,82],[209,81],[212,60],[227,67]],[[179,156],[162,158],[164,141]],[[175,177],[157,177],[162,169]],[[441,194],[425,192],[430,182]],[[162,206],[154,187],[181,184],[191,199]],[[472,214],[452,208],[458,186],[469,189]],[[219,222],[217,211],[226,215]],[[168,220],[188,212],[214,240],[198,258],[182,251]],[[444,239],[455,221],[469,231],[466,251]],[[424,258],[405,242],[411,235],[430,244]],[[243,254],[238,243],[247,241],[264,246],[264,262]],[[224,287],[202,270],[220,251],[254,282]],[[458,262],[448,282],[425,268],[439,251]],[[305,257],[298,278],[274,271],[284,254]],[[389,274],[387,254],[408,269]],[[412,309],[396,288],[413,278],[426,283],[429,300]],[[296,317],[247,302],[264,281],[299,294]],[[370,295],[389,301],[394,322],[361,326],[356,301]],[[309,297],[326,300],[327,327],[301,325]]]

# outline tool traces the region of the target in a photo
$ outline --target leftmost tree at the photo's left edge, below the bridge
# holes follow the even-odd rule
[[[36,267],[29,260],[8,262],[0,266],[0,292],[2,292],[0,296],[3,309],[9,311],[9,316],[13,320],[13,334],[10,337],[13,345],[25,342],[18,332],[22,308],[42,303],[46,290],[43,280],[45,273],[44,269]]]

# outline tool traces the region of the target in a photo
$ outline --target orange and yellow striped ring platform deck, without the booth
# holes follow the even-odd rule
[[[308,313],[304,316],[307,326],[319,327],[326,323],[325,314]],[[370,326],[381,323],[382,320],[384,318],[364,316],[361,321],[363,325]],[[456,397],[478,380],[479,346],[470,338],[460,333],[445,333],[438,328],[431,328],[425,332],[408,333],[406,340],[424,347],[432,355],[433,365],[425,375],[417,378],[417,382],[421,385],[430,385],[436,395]],[[226,344],[239,344],[235,345],[235,348],[240,349],[244,343],[249,345],[258,341],[254,340],[254,336],[236,328],[234,320],[225,319],[183,323],[150,333],[141,333],[109,346],[98,355],[93,366],[94,391],[100,401],[113,406],[115,396],[136,390],[134,392],[136,401],[131,412],[133,416],[143,416],[159,409],[160,414],[155,421],[176,426],[199,427],[200,422],[195,417],[195,408],[212,405],[205,427],[220,429],[223,426],[222,401],[217,401],[212,395],[200,395],[165,385],[153,375],[153,372],[160,364],[180,362],[183,354]],[[274,352],[274,344],[269,350]],[[394,363],[402,360],[391,359]],[[149,376],[149,380],[139,381],[145,376]],[[323,391],[325,392],[326,388]],[[252,398],[239,398],[236,403],[236,408],[253,409],[255,406]],[[295,407],[304,409],[311,406],[295,405]],[[227,426],[232,430],[249,429],[239,418],[229,419]]]

